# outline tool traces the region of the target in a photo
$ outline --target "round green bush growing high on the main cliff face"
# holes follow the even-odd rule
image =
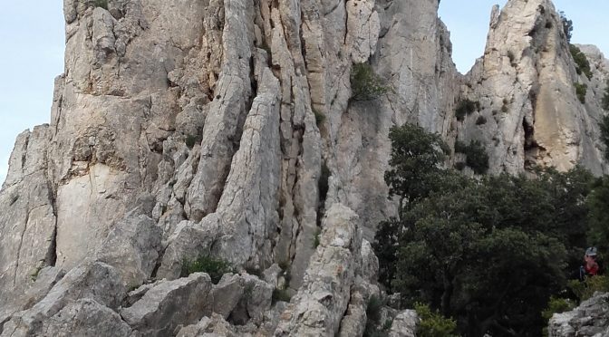
[[[354,63],[351,69],[352,99],[371,101],[389,91],[381,76],[377,75],[368,63]]]

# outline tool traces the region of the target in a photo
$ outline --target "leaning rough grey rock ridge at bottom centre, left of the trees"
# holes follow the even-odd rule
[[[362,234],[357,215],[341,204],[326,212],[323,227],[304,283],[282,314],[275,336],[332,336],[339,332],[361,254]]]

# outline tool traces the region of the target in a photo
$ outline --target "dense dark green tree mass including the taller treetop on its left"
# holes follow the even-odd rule
[[[400,137],[392,143],[386,178],[398,182],[390,184],[395,195],[410,201],[375,236],[382,284],[400,293],[406,307],[428,303],[453,317],[463,335],[540,335],[550,296],[562,294],[588,246],[587,200],[598,200],[596,208],[606,213],[609,180],[607,194],[594,197],[594,179],[582,168],[537,169],[536,178],[468,178],[452,169],[426,176],[433,168],[416,164],[435,162],[431,167],[438,168],[441,160],[430,160],[430,150],[412,150],[425,149],[415,140],[426,137],[404,134],[413,130],[394,131]],[[414,168],[401,169],[402,159]],[[417,189],[395,188],[415,177]],[[604,219],[599,217],[599,226]]]

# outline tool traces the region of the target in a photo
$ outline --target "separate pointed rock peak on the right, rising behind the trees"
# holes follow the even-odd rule
[[[500,12],[493,9],[484,56],[461,93],[461,99],[478,101],[479,109],[457,123],[459,140],[486,144],[492,172],[576,164],[595,174],[607,170],[597,127],[604,87],[598,81],[606,79],[606,63],[589,50],[594,75],[578,74],[562,27],[548,0],[510,1]],[[575,83],[590,88],[585,103]]]

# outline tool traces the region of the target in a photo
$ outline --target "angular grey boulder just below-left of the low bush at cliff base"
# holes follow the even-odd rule
[[[211,279],[196,273],[175,281],[155,284],[140,301],[121,309],[134,330],[147,336],[175,334],[180,324],[197,323],[212,308]]]

